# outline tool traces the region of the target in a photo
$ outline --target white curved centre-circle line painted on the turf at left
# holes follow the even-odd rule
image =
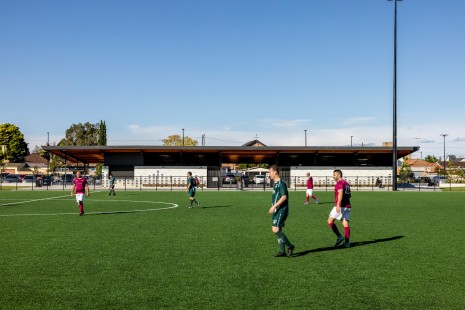
[[[35,201],[41,201],[41,200],[60,200],[60,201],[72,201],[72,199],[58,199],[61,197],[67,197],[67,196],[57,196],[57,197],[51,197],[51,198],[42,198],[42,199],[34,199],[34,200],[27,200],[27,201],[21,201],[18,203],[10,203],[10,204],[1,204],[0,206],[8,206],[8,205],[15,205],[15,204],[20,204],[20,203],[27,203],[27,202],[35,202]],[[95,199],[91,201],[105,201],[108,202],[109,200],[104,200],[104,199]],[[157,209],[134,209],[134,210],[121,210],[121,211],[101,211],[101,212],[86,212],[85,214],[117,214],[117,213],[135,213],[135,212],[149,212],[149,211],[161,211],[161,210],[168,210],[168,209],[174,209],[179,207],[179,205],[171,202],[160,202],[160,201],[145,201],[145,200],[112,200],[111,202],[130,202],[130,203],[150,203],[150,204],[166,204],[170,205],[165,208],[157,208]],[[25,214],[5,214],[5,215],[0,215],[0,217],[13,217],[13,216],[56,216],[56,215],[76,215],[76,212],[73,213],[25,213]]]

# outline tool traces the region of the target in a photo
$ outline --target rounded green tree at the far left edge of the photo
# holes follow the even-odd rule
[[[2,159],[12,163],[22,162],[24,157],[29,155],[24,135],[16,125],[9,123],[0,125],[0,145],[5,145]]]

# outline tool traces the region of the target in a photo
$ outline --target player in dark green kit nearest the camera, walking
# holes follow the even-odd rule
[[[291,256],[294,251],[294,245],[287,239],[283,233],[284,222],[289,214],[289,194],[286,183],[279,176],[279,169],[276,165],[270,167],[270,178],[274,181],[273,195],[271,198],[271,208],[268,213],[272,215],[271,230],[278,239],[279,252],[275,257]]]

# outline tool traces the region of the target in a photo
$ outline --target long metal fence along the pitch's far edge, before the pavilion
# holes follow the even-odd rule
[[[229,180],[222,178],[208,180],[206,176],[198,176],[198,190],[243,190],[243,191],[266,191],[271,190],[273,182],[265,179],[263,183],[255,183],[252,180]],[[352,191],[392,191],[391,177],[379,176],[344,176],[351,185]],[[208,182],[207,182],[208,181]],[[290,191],[305,191],[307,187],[307,177],[291,176],[284,179]],[[208,184],[208,186],[207,186]],[[0,179],[0,190],[71,190],[71,181],[53,180],[44,182],[42,178],[34,178],[32,181],[8,183]],[[330,176],[313,176],[315,191],[333,191],[335,182]],[[90,189],[106,190],[109,181],[90,180]],[[187,179],[185,176],[138,176],[117,178],[115,189],[117,191],[179,191],[185,190]],[[454,179],[442,181],[441,183],[423,183],[421,181],[411,182],[399,179],[397,183],[398,191],[465,191],[465,179]]]

